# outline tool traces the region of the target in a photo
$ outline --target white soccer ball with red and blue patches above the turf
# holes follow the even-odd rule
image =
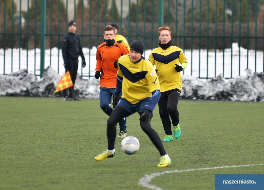
[[[135,154],[139,150],[139,140],[136,137],[125,137],[121,142],[121,149],[125,154]]]

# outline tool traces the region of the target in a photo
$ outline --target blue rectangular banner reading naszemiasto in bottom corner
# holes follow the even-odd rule
[[[264,190],[264,174],[215,174],[215,190]]]

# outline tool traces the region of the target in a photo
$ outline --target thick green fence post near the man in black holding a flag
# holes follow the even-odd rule
[[[46,0],[41,1],[40,11],[40,78],[45,65],[45,33],[46,33]]]

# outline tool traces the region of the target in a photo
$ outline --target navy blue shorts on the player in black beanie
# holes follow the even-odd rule
[[[146,105],[148,105],[149,103],[150,103],[150,97],[147,97],[143,100],[140,100],[139,103],[135,103],[135,104],[130,103],[129,101],[127,101],[124,98],[121,98],[120,101],[118,102],[117,106],[121,106],[126,111],[128,111],[130,113],[128,116],[130,116],[135,112],[139,113],[141,110],[146,109],[147,108]],[[139,113],[139,115],[140,115],[140,113]],[[153,116],[153,112],[152,112],[152,116]]]

